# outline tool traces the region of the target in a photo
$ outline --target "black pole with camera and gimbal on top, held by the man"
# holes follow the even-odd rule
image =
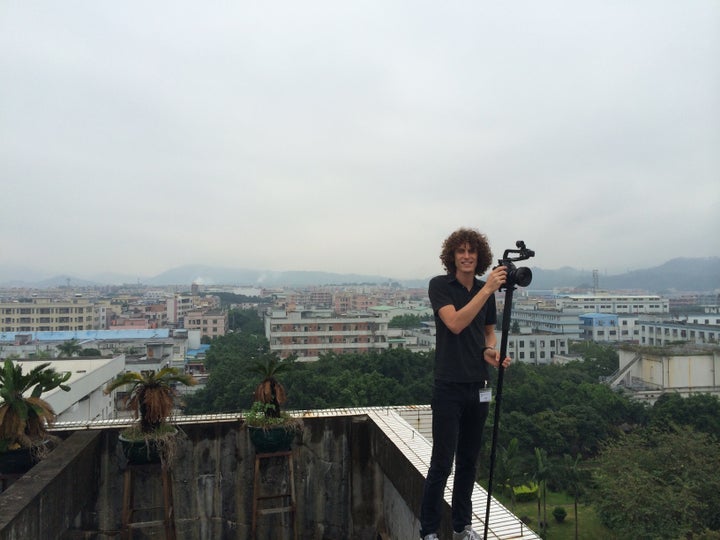
[[[500,365],[498,366],[497,389],[495,390],[495,417],[493,420],[493,438],[490,450],[490,475],[487,489],[487,506],[485,507],[485,532],[484,540],[487,540],[488,523],[490,521],[490,499],[492,496],[493,473],[495,470],[495,455],[497,453],[497,436],[500,424],[500,403],[502,402],[502,385],[505,368],[502,363],[507,356],[508,334],[510,333],[510,317],[512,313],[512,296],[515,285],[527,287],[532,281],[532,272],[529,268],[516,268],[514,261],[523,261],[535,256],[535,252],[525,247],[525,242],[518,240],[515,245],[518,249],[506,249],[502,260],[499,263],[508,270],[507,281],[505,282],[505,305],[503,306],[502,337],[500,338]],[[517,253],[517,257],[509,257],[510,253]]]

